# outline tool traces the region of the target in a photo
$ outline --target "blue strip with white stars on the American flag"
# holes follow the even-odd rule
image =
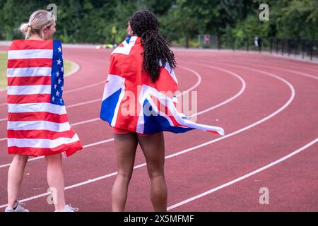
[[[53,40],[53,57],[51,71],[51,103],[64,105],[62,98],[64,88],[64,64],[61,41]]]

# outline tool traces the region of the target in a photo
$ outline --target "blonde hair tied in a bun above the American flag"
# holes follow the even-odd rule
[[[20,25],[19,30],[23,33],[26,40],[34,34],[40,35],[43,38],[42,29],[51,26],[54,20],[53,14],[49,11],[38,10],[32,13],[29,23]]]

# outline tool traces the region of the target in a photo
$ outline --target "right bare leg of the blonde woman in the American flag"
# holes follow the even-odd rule
[[[61,154],[47,155],[47,184],[52,190],[55,210],[62,210],[65,206],[64,174]]]

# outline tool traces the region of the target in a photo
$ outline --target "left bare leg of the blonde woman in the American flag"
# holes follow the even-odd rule
[[[8,207],[15,208],[28,155],[14,155],[8,169]]]

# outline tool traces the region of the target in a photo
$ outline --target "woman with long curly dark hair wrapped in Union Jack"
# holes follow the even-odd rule
[[[201,129],[224,135],[220,127],[196,124],[177,112],[175,56],[159,33],[151,11],[137,11],[129,20],[131,38],[114,49],[102,98],[100,118],[114,131],[118,174],[112,188],[112,210],[123,211],[136,148],[146,157],[155,211],[167,210],[163,131]]]

